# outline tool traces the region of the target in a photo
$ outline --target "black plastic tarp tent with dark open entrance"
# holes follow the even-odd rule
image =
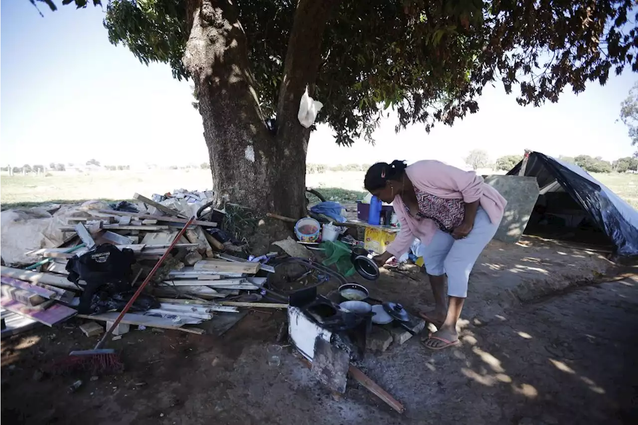
[[[518,175],[522,165],[508,175]],[[526,234],[610,244],[618,255],[638,255],[638,211],[581,167],[532,152],[524,175],[536,177],[540,188]]]

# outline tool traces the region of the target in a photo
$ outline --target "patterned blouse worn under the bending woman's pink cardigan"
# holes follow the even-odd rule
[[[445,199],[414,188],[419,202],[419,212],[415,218],[422,220],[429,218],[442,231],[452,233],[459,227],[465,216],[465,205],[462,199]],[[406,213],[410,214],[408,205],[404,205]]]

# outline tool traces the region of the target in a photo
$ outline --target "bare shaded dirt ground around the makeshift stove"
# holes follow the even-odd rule
[[[109,341],[126,364],[114,377],[41,376],[86,349],[71,320],[0,343],[0,417],[8,424],[623,424],[637,423],[638,280],[597,253],[526,239],[479,258],[459,347],[412,338],[369,353],[365,373],[399,415],[355,382],[334,399],[285,348],[267,364],[281,311],[251,311],[225,335],[131,331]],[[607,275],[604,276],[604,273]],[[582,285],[575,285],[582,283]],[[416,311],[431,303],[423,274],[383,272],[371,295]],[[329,290],[327,285],[323,290]],[[78,378],[76,392],[70,385]]]

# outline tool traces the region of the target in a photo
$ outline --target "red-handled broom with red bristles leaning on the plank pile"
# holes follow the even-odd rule
[[[168,256],[168,253],[170,253],[170,251],[175,248],[175,244],[177,244],[177,241],[179,241],[182,235],[184,235],[184,232],[186,232],[186,228],[188,228],[189,225],[193,223],[193,220],[195,220],[195,217],[191,217],[191,219],[186,222],[182,230],[179,231],[166,252],[161,256],[161,258],[159,258],[158,262],[152,268],[151,272],[149,272],[148,276],[146,276],[146,278],[142,282],[142,285],[137,288],[137,291],[135,291],[133,297],[131,297],[131,299],[126,303],[126,306],[124,306],[121,313],[119,313],[117,318],[115,318],[115,322],[113,322],[111,327],[108,328],[107,332],[105,332],[104,336],[102,336],[100,341],[96,344],[95,348],[93,348],[93,350],[80,350],[70,352],[68,357],[64,357],[64,359],[58,361],[57,364],[54,366],[54,369],[56,369],[58,373],[90,371],[93,375],[109,375],[112,373],[121,373],[124,370],[124,364],[120,360],[119,355],[115,353],[115,350],[113,350],[112,348],[102,347],[107,341],[107,338],[113,333],[115,327],[119,325],[119,322],[121,322],[128,309],[131,308],[133,302],[135,302],[137,297],[142,293],[144,287],[149,283],[149,281],[151,281],[154,274],[158,271],[159,266],[161,266],[161,264]]]

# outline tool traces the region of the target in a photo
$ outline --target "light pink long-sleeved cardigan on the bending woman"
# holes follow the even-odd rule
[[[441,198],[463,199],[467,203],[478,199],[492,223],[500,223],[503,218],[507,201],[473,171],[463,171],[440,161],[426,160],[409,165],[405,172],[412,184],[424,192]],[[392,205],[401,223],[401,232],[388,246],[389,253],[394,257],[401,257],[408,252],[415,237],[423,244],[429,244],[437,230],[434,221],[427,218],[416,220],[407,214],[403,200],[398,195],[394,197]]]

